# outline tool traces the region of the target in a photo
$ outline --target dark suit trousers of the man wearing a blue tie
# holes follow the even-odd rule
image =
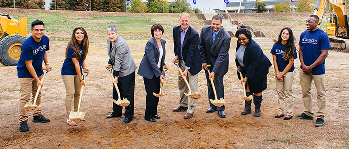
[[[210,67],[211,68],[211,67]],[[212,68],[213,69],[213,68]],[[212,70],[210,69],[210,72],[212,72]],[[214,100],[214,92],[213,92],[213,88],[212,88],[212,84],[211,84],[211,80],[209,80],[209,75],[208,72],[205,70],[205,74],[206,74],[206,79],[207,79],[207,87],[208,87],[208,98]],[[218,74],[214,75],[214,86],[216,88],[216,92],[217,92],[217,98],[223,98],[224,99],[224,84],[223,84],[223,77],[224,76],[219,76]],[[225,99],[224,99],[225,100]],[[218,110],[224,110],[225,106],[221,106],[221,107],[217,107],[215,105],[213,105],[209,100],[209,106],[212,108],[217,108]]]

